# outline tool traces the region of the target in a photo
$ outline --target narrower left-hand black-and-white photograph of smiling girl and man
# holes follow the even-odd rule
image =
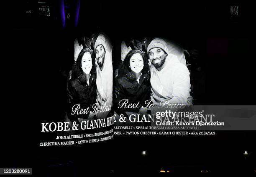
[[[113,100],[112,45],[108,36],[103,32],[78,34],[74,39],[74,63],[69,72],[62,72],[64,80],[67,77],[69,107],[64,121],[71,124],[110,117]]]

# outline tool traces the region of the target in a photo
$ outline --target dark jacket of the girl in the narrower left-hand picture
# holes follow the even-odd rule
[[[88,118],[88,114],[82,115],[71,115],[72,107],[76,104],[80,104],[80,109],[87,109],[89,107],[92,111],[92,105],[96,103],[97,87],[96,87],[96,73],[91,74],[89,79],[89,85],[86,82],[86,79],[79,75],[78,78],[71,78],[68,82],[69,92],[72,95],[72,102],[69,111],[69,118]]]

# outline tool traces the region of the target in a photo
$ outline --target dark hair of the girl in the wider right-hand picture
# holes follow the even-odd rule
[[[144,67],[141,70],[141,73],[143,73],[143,74],[148,73],[149,66],[148,66],[148,55],[147,55],[147,53],[142,52],[141,50],[135,49],[135,50],[131,50],[130,52],[128,52],[128,54],[125,56],[125,59],[123,60],[123,65],[118,71],[118,76],[123,76],[123,75],[126,75],[127,72],[131,72],[131,68],[129,67],[130,66],[130,59],[136,53],[141,54],[141,56],[143,58]]]

